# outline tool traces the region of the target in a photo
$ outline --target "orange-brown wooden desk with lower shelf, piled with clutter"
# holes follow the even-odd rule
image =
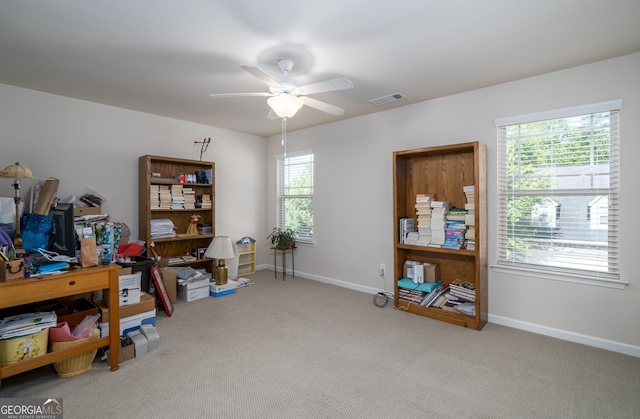
[[[108,290],[109,298],[109,336],[0,367],[0,379],[105,346],[109,346],[111,371],[116,371],[120,352],[119,269],[120,266],[111,264],[95,268],[76,269],[60,275],[0,282],[0,309],[97,290]]]

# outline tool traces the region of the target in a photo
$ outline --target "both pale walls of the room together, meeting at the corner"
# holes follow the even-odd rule
[[[391,291],[391,156],[396,150],[479,140],[488,146],[489,262],[496,257],[494,119],[621,98],[622,226],[640,208],[640,54],[475,90],[307,130],[290,132],[290,151],[316,156],[315,247],[296,254],[296,271],[367,292]],[[410,92],[405,92],[410,94]],[[307,110],[314,111],[314,110]],[[60,196],[91,187],[105,210],[137,236],[137,159],[199,158],[211,137],[216,162],[216,229],[257,239],[258,265],[273,263],[266,240],[275,225],[275,159],[268,139],[0,85],[0,168],[20,161],[36,176],[60,179]],[[265,179],[265,173],[266,176]],[[0,196],[12,196],[10,181]],[[25,182],[26,183],[26,182]],[[623,230],[624,290],[508,276],[489,270],[489,320],[640,356],[640,289],[634,231]],[[385,282],[386,281],[386,282]],[[431,321],[425,319],[425,321]]]

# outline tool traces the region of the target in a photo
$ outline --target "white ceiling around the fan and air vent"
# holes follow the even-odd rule
[[[267,98],[208,96],[268,91],[240,64],[354,83],[293,131],[638,52],[639,20],[638,0],[4,0],[0,83],[268,136]]]

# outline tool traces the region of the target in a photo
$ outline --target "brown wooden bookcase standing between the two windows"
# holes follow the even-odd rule
[[[394,303],[401,310],[480,330],[487,323],[487,147],[469,142],[393,153]],[[464,208],[463,186],[475,186],[475,250],[451,250],[400,244],[398,220],[416,217],[416,194],[433,193],[438,201]],[[475,317],[423,307],[398,299],[398,280],[406,260],[438,265],[440,280],[469,281],[476,287]]]

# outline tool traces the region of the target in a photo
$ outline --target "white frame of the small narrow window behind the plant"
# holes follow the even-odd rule
[[[294,159],[299,157],[311,156],[311,193],[310,194],[284,194],[284,173],[287,167],[286,162],[288,159]],[[286,152],[276,155],[276,226],[278,228],[285,228],[286,212],[285,202],[293,197],[305,198],[311,200],[311,220],[315,224],[315,216],[313,211],[313,202],[315,199],[315,155],[313,150],[299,150],[294,152]],[[300,232],[297,232],[298,234]],[[296,234],[296,246],[297,245],[315,245],[315,237],[313,234],[313,227],[311,228],[309,236],[300,236]]]

